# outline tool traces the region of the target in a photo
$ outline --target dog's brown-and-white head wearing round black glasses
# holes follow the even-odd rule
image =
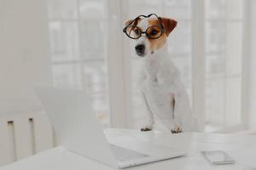
[[[136,54],[143,57],[162,48],[177,21],[164,17],[138,17],[125,22],[126,35],[135,39]]]

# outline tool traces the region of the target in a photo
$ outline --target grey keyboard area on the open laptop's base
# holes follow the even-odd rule
[[[123,147],[119,147],[115,144],[110,144],[110,148],[113,151],[113,155],[116,157],[118,161],[131,161],[138,158],[147,157],[148,155],[144,155],[137,151],[128,150]]]

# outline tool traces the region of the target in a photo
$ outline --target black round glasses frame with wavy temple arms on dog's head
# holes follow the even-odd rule
[[[154,26],[149,26],[146,31],[141,31],[137,26],[134,26],[134,27],[137,27],[137,29],[138,29],[141,33],[140,33],[140,35],[139,35],[138,37],[130,37],[130,35],[127,33],[127,28],[128,28],[128,27],[131,27],[131,26],[132,26],[131,24],[132,24],[133,22],[135,22],[136,20],[138,20],[140,17],[149,18],[149,17],[151,17],[152,15],[154,15],[154,16],[159,20],[160,26],[157,26],[157,27],[160,27],[160,29],[161,29],[161,34],[160,34],[160,36],[158,36],[158,37],[149,37],[147,31],[148,31],[149,28],[154,27]],[[161,35],[163,35],[163,33],[165,32],[165,27],[164,27],[163,24],[162,24],[161,18],[160,18],[157,14],[148,14],[147,16],[141,14],[141,15],[137,16],[134,20],[132,20],[127,26],[125,26],[125,28],[123,29],[123,32],[126,34],[127,37],[130,37],[131,39],[138,39],[138,38],[142,37],[143,34],[145,34],[149,39],[157,39],[157,38],[161,37]]]

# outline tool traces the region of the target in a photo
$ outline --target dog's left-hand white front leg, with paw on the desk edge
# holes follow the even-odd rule
[[[147,118],[146,121],[143,124],[143,127],[141,128],[141,131],[150,131],[154,127],[154,115],[153,112],[151,111],[149,105],[148,105],[148,100],[146,98],[146,95],[142,92],[143,94],[143,101],[145,102],[146,108],[147,108]]]

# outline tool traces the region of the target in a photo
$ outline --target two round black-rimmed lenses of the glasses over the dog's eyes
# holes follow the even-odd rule
[[[132,39],[138,39],[139,37],[142,37],[142,34],[146,34],[146,36],[150,39],[156,39],[163,34],[160,26],[149,26],[146,31],[142,31],[137,26],[126,26],[124,32]]]

